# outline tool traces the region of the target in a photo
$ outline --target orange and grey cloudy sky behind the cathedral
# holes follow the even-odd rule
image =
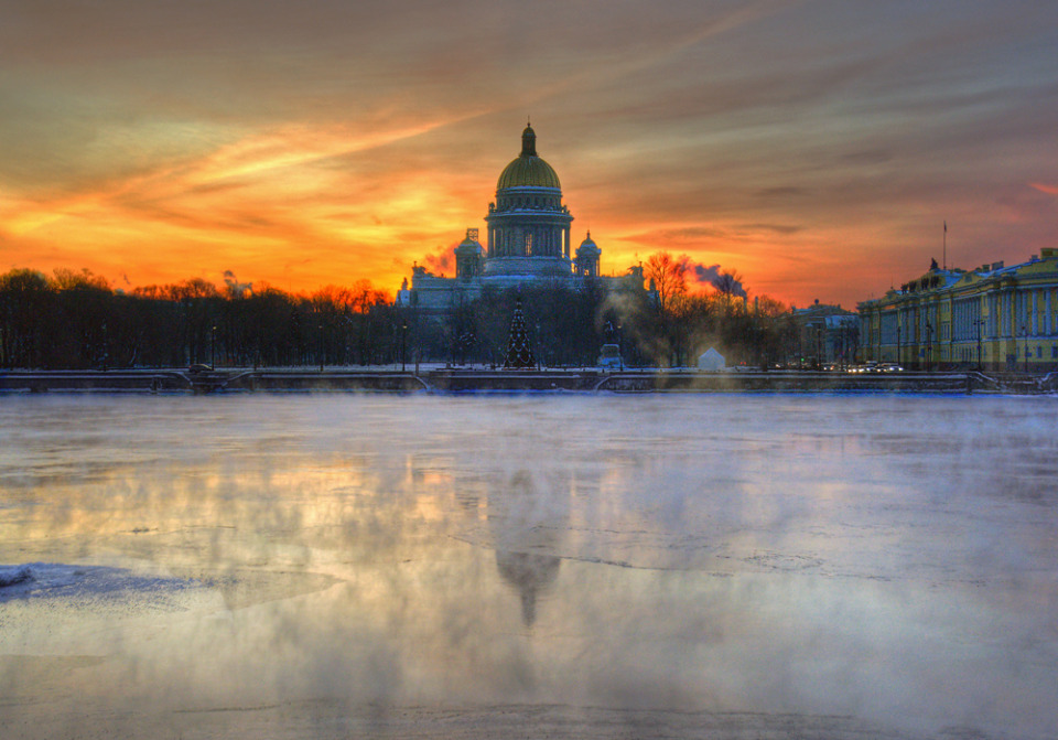
[[[392,292],[531,118],[604,272],[853,308],[1058,247],[1056,60],[1052,0],[0,0],[0,271]]]

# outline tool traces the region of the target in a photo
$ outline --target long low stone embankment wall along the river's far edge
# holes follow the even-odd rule
[[[985,376],[980,373],[811,373],[597,369],[185,369],[0,372],[0,392],[216,393],[253,390],[367,390],[382,393],[1058,393],[1058,375]]]

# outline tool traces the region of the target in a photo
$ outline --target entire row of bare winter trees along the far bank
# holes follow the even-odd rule
[[[766,367],[797,352],[789,311],[724,286],[692,289],[689,261],[660,253],[622,288],[584,281],[486,287],[436,313],[393,305],[367,281],[293,294],[192,279],[115,290],[88,270],[0,275],[0,366],[7,368],[341,366],[445,362],[501,365],[521,302],[537,360],[594,365],[617,344],[627,366],[693,365],[715,347]],[[648,281],[644,286],[644,278]]]

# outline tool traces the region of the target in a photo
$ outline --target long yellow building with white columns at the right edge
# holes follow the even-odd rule
[[[864,361],[907,369],[1058,369],[1058,249],[940,269],[859,304]]]

